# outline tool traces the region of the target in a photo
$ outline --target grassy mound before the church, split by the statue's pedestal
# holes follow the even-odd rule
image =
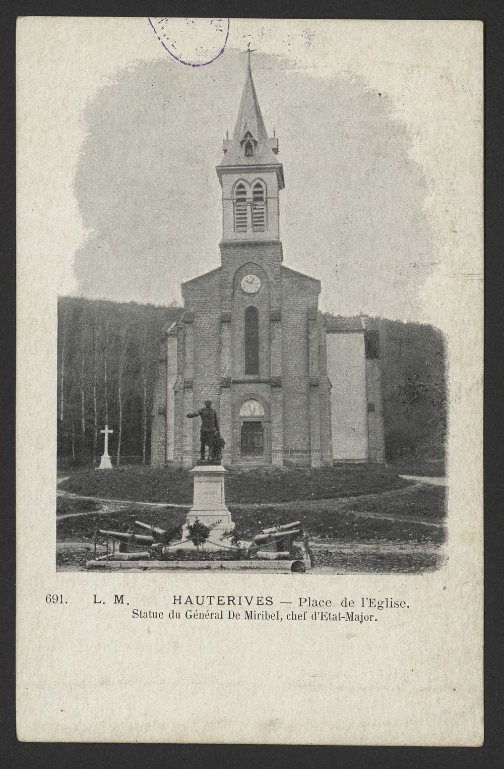
[[[353,497],[406,488],[410,481],[383,464],[339,464],[331,468],[231,470],[226,478],[230,504]],[[74,471],[59,488],[85,497],[191,504],[190,471],[171,468],[117,468]]]

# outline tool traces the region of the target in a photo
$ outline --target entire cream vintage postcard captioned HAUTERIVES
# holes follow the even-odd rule
[[[18,20],[20,740],[482,744],[482,39]]]

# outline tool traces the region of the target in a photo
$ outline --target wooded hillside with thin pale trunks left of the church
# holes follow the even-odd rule
[[[104,424],[116,464],[149,460],[155,361],[161,330],[181,308],[58,300],[58,458],[96,461]]]

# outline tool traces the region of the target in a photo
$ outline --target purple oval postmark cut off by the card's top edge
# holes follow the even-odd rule
[[[149,16],[159,42],[177,62],[188,67],[211,64],[226,48],[229,18]]]

